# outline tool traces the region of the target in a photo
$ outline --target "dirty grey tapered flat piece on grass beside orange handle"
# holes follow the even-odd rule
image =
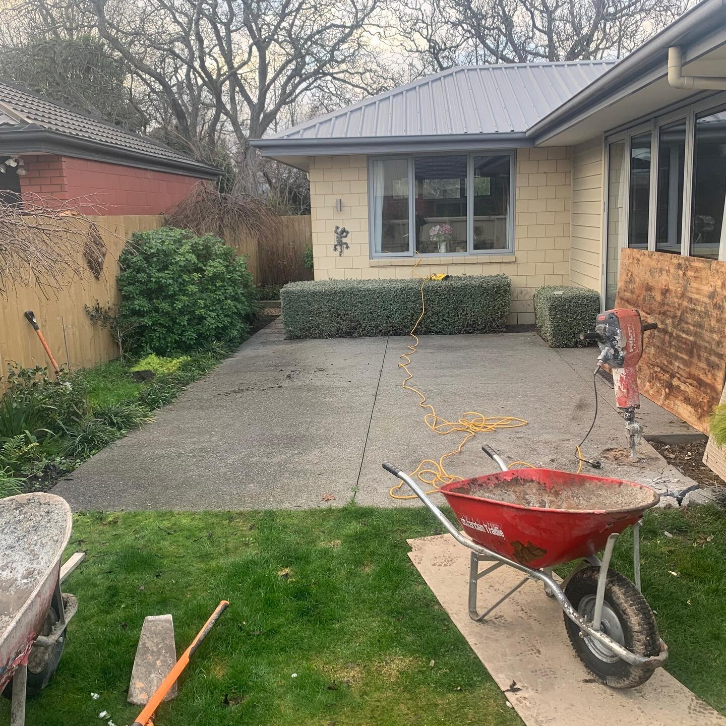
[[[134,668],[129,684],[129,703],[145,706],[176,663],[174,621],[171,615],[150,615],[144,625],[136,648]],[[169,689],[164,701],[176,698],[176,683]]]

